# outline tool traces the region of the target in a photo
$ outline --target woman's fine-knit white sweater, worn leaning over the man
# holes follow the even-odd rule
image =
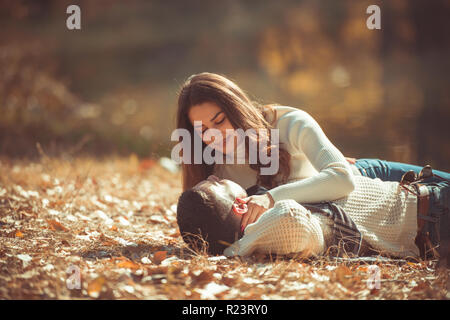
[[[276,118],[269,114],[267,120],[275,120],[279,142],[291,155],[291,173],[288,183],[269,190],[273,199],[312,203],[348,195],[354,189],[357,169],[349,165],[319,124],[305,111],[287,106],[274,108]],[[214,174],[243,188],[255,185],[257,178],[257,172],[248,164],[216,164]]]

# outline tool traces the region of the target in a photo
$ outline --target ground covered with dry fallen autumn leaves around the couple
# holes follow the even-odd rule
[[[166,167],[1,159],[0,299],[449,298],[433,262],[193,253],[176,225],[180,174]]]

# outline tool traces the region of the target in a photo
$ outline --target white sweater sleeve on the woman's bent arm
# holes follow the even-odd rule
[[[296,110],[284,114],[278,119],[276,127],[279,129],[280,142],[285,144],[287,151],[303,154],[318,174],[269,190],[275,201],[332,201],[353,191],[355,185],[349,163],[308,113]]]

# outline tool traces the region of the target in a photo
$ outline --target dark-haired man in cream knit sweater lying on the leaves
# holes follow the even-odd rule
[[[364,255],[367,248],[394,257],[440,254],[446,260],[449,182],[418,186],[414,180],[408,185],[408,177],[398,183],[357,176],[355,190],[345,198],[304,205],[278,201],[243,231],[246,207],[236,199],[248,193],[230,180],[210,176],[180,196],[177,220],[186,243],[199,249],[206,244],[212,254],[246,256],[258,251],[308,257],[337,246],[340,253]]]

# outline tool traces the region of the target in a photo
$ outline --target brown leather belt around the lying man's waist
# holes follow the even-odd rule
[[[430,208],[430,192],[428,188],[421,184],[415,184],[417,190],[417,236],[415,243],[420,251],[420,256],[423,259],[438,258],[439,254],[436,246],[430,240],[429,232],[424,232],[423,228],[427,221],[432,221],[433,218],[429,216]]]

